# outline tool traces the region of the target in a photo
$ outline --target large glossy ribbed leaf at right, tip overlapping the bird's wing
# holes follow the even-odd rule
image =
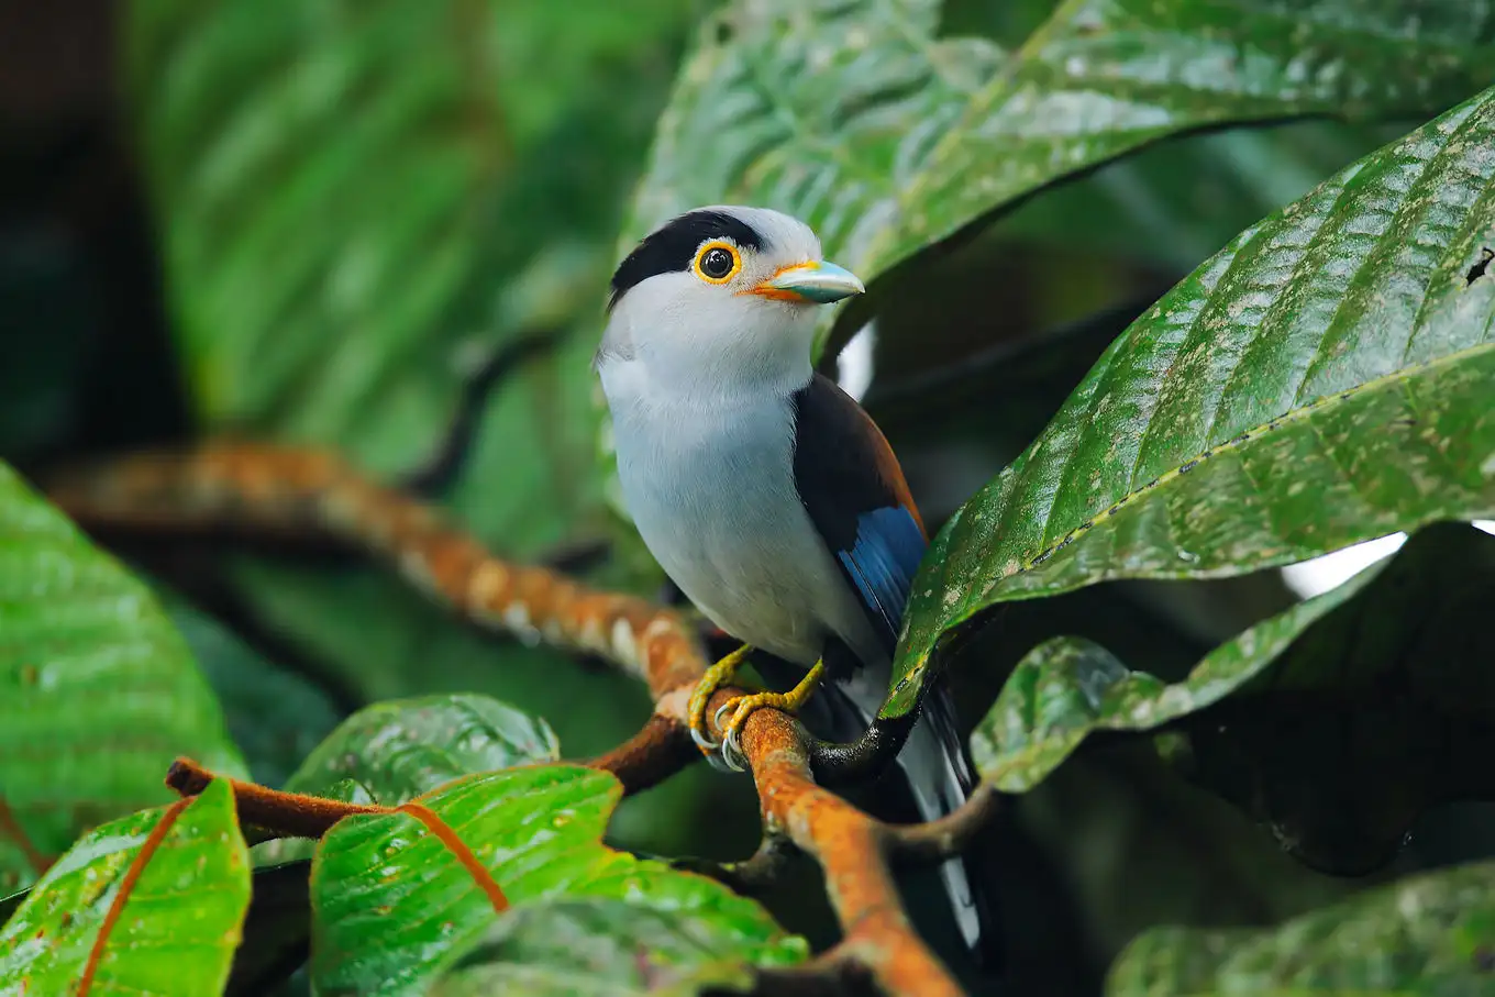
[[[945,526],[884,714],[1006,599],[1239,574],[1495,514],[1495,91],[1248,229]]]

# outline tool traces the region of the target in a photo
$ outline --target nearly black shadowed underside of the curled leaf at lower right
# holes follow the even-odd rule
[[[1495,537],[1429,526],[1160,747],[1308,865],[1380,868],[1425,810],[1495,800],[1492,604]]]

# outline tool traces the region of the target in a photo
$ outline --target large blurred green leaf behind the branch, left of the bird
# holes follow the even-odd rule
[[[692,6],[130,4],[133,132],[208,427],[405,471],[483,353],[556,330],[553,351],[489,393],[447,504],[513,558],[601,529],[594,344],[577,315],[601,311]],[[256,561],[235,581],[368,700],[492,692],[556,717],[576,753],[616,744],[649,709],[626,679],[475,635],[375,571]],[[635,827],[653,843],[689,824],[688,795],[650,797]]]

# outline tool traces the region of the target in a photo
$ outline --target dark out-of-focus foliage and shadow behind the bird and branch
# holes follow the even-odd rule
[[[949,0],[939,34],[1008,51],[1054,6]],[[655,123],[713,9],[0,3],[0,456],[39,472],[205,433],[271,436],[419,475],[505,555],[571,564],[616,537],[591,350]],[[1017,454],[1174,281],[1423,120],[1171,139],[890,274],[875,342],[839,363],[870,375],[867,405],[925,517],[937,526]],[[514,344],[526,348],[490,390],[469,390]],[[469,422],[466,445],[441,460],[454,422]],[[629,680],[469,632],[336,552],[105,540],[167,593],[272,785],[375,700],[487,692],[546,717],[570,758],[614,744],[647,710]],[[662,592],[637,549],[613,555],[585,568]],[[1014,604],[964,652],[987,664],[955,676],[960,701],[975,722],[1060,629],[1177,680],[1295,599],[1272,571]],[[1094,993],[1151,925],[1274,922],[1495,852],[1495,813],[1461,804],[1425,816],[1392,865],[1329,877],[1156,753],[1093,741],[988,843],[1015,912],[1014,994]],[[704,767],[626,801],[611,825],[622,846],[721,858],[746,855],[756,831],[746,780]],[[770,904],[831,937],[816,882]]]

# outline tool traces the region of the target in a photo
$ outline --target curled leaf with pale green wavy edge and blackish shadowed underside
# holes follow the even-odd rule
[[[1384,864],[1429,806],[1495,798],[1485,668],[1495,538],[1444,523],[1389,562],[1220,646],[1181,682],[1057,638],[978,725],[985,779],[1026,792],[1097,731],[1162,741],[1200,783],[1317,868]]]

